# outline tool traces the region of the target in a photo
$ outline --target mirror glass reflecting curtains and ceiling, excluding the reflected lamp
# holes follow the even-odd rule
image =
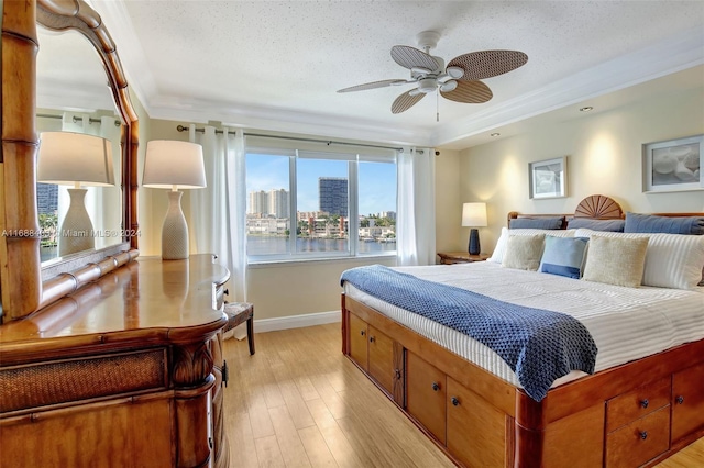
[[[110,145],[107,153],[114,168],[113,180],[118,181],[117,185],[84,188],[87,190],[85,208],[92,227],[86,233],[86,238],[64,238],[78,242],[64,242],[63,247],[61,241],[65,236],[62,234],[72,234],[61,230],[66,222],[72,197],[59,185],[37,183],[41,259],[42,265],[47,266],[62,256],[100,249],[123,241],[119,182],[122,179],[121,129],[111,91],[106,86],[106,71],[94,46],[75,31],[56,33],[37,27],[37,35],[41,44],[36,60],[37,133],[72,132],[105,138]],[[40,141],[40,158],[43,149]]]

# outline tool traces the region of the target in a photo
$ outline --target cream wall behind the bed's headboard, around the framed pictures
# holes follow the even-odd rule
[[[591,194],[612,197],[624,211],[704,212],[704,191],[644,193],[641,172],[642,144],[704,133],[703,102],[704,87],[698,87],[610,111],[578,115],[575,109],[571,120],[462,151],[461,198],[487,203],[490,225],[480,230],[482,249],[493,250],[509,211],[573,213]],[[568,197],[529,199],[528,163],[565,155]],[[460,207],[461,202],[455,210]],[[461,238],[466,238],[468,229],[461,230]]]

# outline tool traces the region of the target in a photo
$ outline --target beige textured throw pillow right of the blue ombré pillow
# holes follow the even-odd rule
[[[582,279],[638,288],[646,266],[648,241],[648,237],[620,238],[592,235]]]

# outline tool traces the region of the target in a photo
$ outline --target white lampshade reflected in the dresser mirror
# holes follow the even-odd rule
[[[112,143],[85,133],[43,132],[36,180],[62,186],[114,186]]]

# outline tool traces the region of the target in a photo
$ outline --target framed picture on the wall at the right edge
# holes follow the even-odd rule
[[[642,191],[704,189],[704,135],[642,145]]]

